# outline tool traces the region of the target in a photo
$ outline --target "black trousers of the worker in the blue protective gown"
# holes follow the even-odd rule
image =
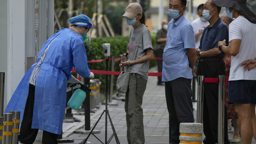
[[[24,110],[23,120],[20,125],[19,141],[21,143],[32,144],[37,136],[38,129],[31,128],[33,109],[35,102],[35,86],[29,84],[28,98]],[[57,134],[43,131],[43,144],[57,144]]]

